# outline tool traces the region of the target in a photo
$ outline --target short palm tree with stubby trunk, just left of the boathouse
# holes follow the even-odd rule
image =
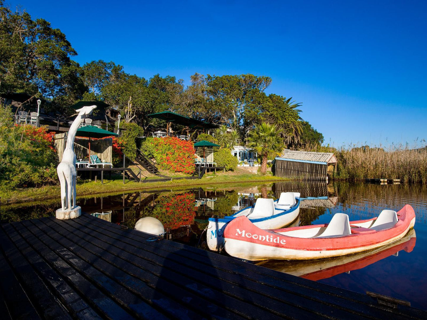
[[[267,172],[267,157],[283,150],[283,139],[280,134],[281,130],[278,130],[276,125],[266,122],[255,125],[255,128],[249,131],[247,145],[263,157],[261,162],[263,174]]]

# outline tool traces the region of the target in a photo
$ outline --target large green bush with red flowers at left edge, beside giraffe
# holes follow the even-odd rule
[[[58,183],[58,157],[47,127],[14,125],[10,109],[0,108],[0,186],[14,189]]]

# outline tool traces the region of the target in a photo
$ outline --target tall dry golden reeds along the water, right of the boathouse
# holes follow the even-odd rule
[[[337,179],[386,178],[427,183],[427,148],[341,148],[335,155],[338,168],[334,178]]]

